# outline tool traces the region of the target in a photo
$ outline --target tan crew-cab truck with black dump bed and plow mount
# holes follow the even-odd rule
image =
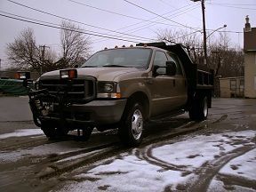
[[[29,92],[34,122],[49,138],[118,128],[138,146],[145,123],[188,112],[202,121],[212,106],[213,72],[199,69],[181,44],[136,44],[96,52],[80,68],[47,72]]]

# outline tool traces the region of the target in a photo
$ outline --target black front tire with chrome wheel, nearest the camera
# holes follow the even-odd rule
[[[144,114],[140,103],[135,102],[126,108],[118,128],[119,138],[126,146],[138,146],[142,141]]]

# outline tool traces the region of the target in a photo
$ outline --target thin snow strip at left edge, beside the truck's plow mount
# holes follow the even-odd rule
[[[15,132],[0,134],[0,140],[10,138],[10,137],[24,137],[24,136],[41,135],[41,134],[44,134],[44,132],[41,129],[22,129],[22,130],[17,130]]]

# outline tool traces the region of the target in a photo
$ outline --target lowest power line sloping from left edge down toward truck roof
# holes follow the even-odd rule
[[[129,40],[129,39],[118,38],[118,37],[114,37],[114,36],[102,36],[102,35],[98,35],[98,34],[87,33],[87,32],[81,31],[81,30],[70,29],[70,28],[61,28],[61,27],[57,27],[57,26],[52,26],[52,25],[44,24],[44,23],[38,23],[38,22],[35,22],[35,21],[31,21],[31,20],[23,20],[23,19],[20,19],[20,18],[14,18],[12,16],[4,15],[4,14],[1,14],[1,13],[0,13],[0,16],[6,17],[6,18],[10,18],[12,20],[20,20],[20,21],[24,21],[24,22],[28,22],[28,23],[33,23],[33,24],[44,26],[44,27],[48,27],[48,28],[59,28],[59,29],[63,29],[63,30],[74,31],[74,32],[77,32],[77,33],[82,33],[82,34],[89,35],[89,36],[100,36],[100,37],[105,37],[105,38],[109,38],[109,39],[116,39],[116,40],[120,40],[120,41],[124,41],[124,42],[138,43],[138,41],[132,41],[132,40]]]

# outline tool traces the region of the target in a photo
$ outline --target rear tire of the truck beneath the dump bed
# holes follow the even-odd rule
[[[208,116],[207,97],[199,97],[194,100],[192,107],[188,110],[189,118],[193,121],[204,121]]]

